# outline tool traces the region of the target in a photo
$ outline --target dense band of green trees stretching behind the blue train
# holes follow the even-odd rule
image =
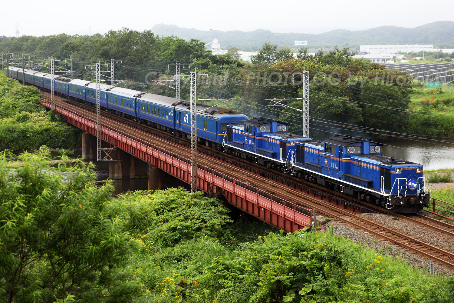
[[[33,68],[47,71],[48,57],[58,58],[56,73],[66,74],[69,57],[73,58],[74,77],[95,79],[95,63],[115,59],[115,79],[123,87],[175,96],[175,60],[181,74],[197,69],[197,96],[200,99],[233,98],[222,106],[251,117],[264,116],[285,120],[290,130],[301,134],[301,100],[286,102],[289,107],[270,108],[269,98],[297,99],[303,96],[301,73],[310,72],[311,137],[322,139],[332,134],[353,134],[384,139],[395,134],[439,136],[454,133],[454,123],[445,117],[415,109],[409,113],[410,94],[415,83],[406,73],[387,70],[369,60],[353,59],[348,48],[334,47],[315,56],[306,48],[293,58],[288,47],[266,42],[252,63],[237,60],[237,49],[227,55],[212,55],[199,40],[175,36],[156,36],[151,31],[138,32],[123,28],[106,35],[8,37],[0,41],[3,53],[31,55]],[[12,59],[11,59],[12,60]],[[28,57],[27,57],[28,60]],[[107,60],[107,61],[106,61]],[[20,60],[15,61],[21,66]],[[28,64],[28,62],[26,62]],[[109,69],[104,66],[105,71]],[[110,83],[109,73],[103,79]],[[159,81],[157,81],[159,80]],[[189,78],[180,78],[181,98],[189,99]],[[165,84],[165,85],[158,85]],[[452,96],[452,95],[451,95]],[[445,106],[454,101],[447,97]],[[219,101],[211,101],[211,105]],[[416,119],[417,118],[417,119]],[[416,120],[415,120],[416,119]],[[416,122],[415,122],[416,121]]]

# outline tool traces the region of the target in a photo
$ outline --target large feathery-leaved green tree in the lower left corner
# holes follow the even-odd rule
[[[113,186],[96,186],[93,164],[79,159],[51,167],[45,147],[16,162],[13,156],[0,153],[2,302],[47,303],[68,293],[99,302],[137,293],[132,277],[106,291],[136,243],[122,231],[123,219],[103,213]]]

